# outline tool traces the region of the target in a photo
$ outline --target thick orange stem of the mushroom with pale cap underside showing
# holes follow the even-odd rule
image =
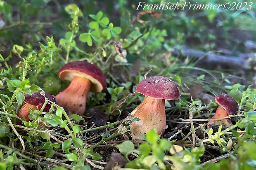
[[[86,98],[90,87],[90,80],[84,77],[74,77],[69,87],[56,95],[57,104],[66,109],[69,114],[82,116],[85,112]]]

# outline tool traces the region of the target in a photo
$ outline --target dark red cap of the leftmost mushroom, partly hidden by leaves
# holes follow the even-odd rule
[[[33,92],[32,95],[24,94],[24,96],[25,96],[24,102],[30,105],[36,106],[39,110],[42,109],[43,104],[45,103],[45,97],[48,100],[56,103],[55,96],[46,92],[45,92],[45,97],[40,94],[40,91]],[[43,109],[43,112],[49,112],[50,108],[51,108],[51,105],[47,103],[45,105],[45,108]]]

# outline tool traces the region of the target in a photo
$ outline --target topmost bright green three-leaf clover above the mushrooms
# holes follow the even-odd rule
[[[101,11],[96,15],[90,14],[89,16],[95,20],[89,23],[89,27],[95,29],[96,31],[99,29],[99,25],[106,28],[109,24],[109,19],[107,17],[103,17],[103,13]]]

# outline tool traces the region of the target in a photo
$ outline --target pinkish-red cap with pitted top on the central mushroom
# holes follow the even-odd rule
[[[154,76],[142,80],[136,91],[152,98],[178,100],[180,92],[175,83],[163,76]]]

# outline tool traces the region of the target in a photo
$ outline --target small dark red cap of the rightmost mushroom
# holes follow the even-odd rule
[[[215,97],[216,102],[223,107],[228,115],[234,115],[238,110],[237,101],[231,95],[222,93]]]

